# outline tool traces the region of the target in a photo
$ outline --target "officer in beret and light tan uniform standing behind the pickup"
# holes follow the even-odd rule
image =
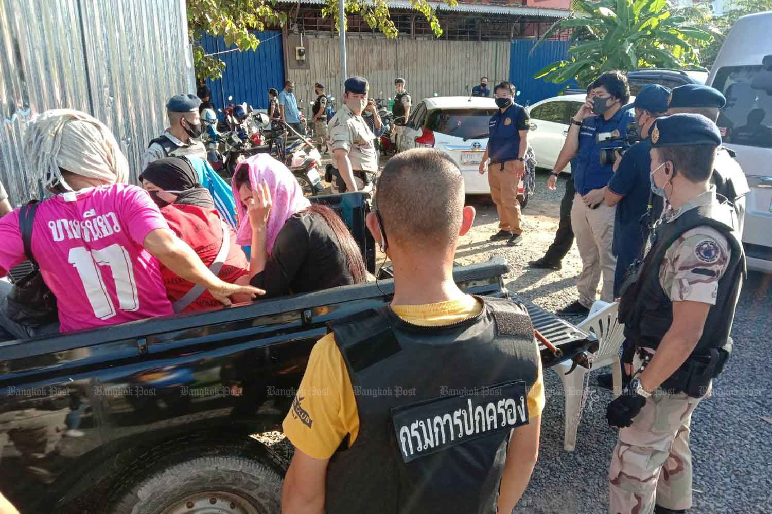
[[[344,105],[330,119],[330,147],[337,167],[331,175],[340,193],[361,190],[369,185],[378,171],[371,129],[362,118],[368,106],[370,85],[364,77],[350,77],[344,83]]]

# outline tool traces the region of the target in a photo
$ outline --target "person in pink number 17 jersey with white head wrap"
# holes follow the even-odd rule
[[[56,193],[37,207],[31,246],[57,299],[59,331],[171,314],[159,260],[223,304],[263,293],[212,274],[147,193],[124,183],[126,158],[99,120],[80,111],[47,111],[27,126],[24,144],[31,179]],[[0,219],[0,275],[24,259],[17,209]],[[23,327],[7,330],[31,335]]]

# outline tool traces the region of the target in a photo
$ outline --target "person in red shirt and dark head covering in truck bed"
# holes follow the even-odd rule
[[[167,157],[147,165],[142,186],[161,210],[169,228],[201,257],[206,266],[231,284],[249,284],[249,263],[236,244],[235,231],[222,220],[209,191],[198,183],[198,174],[184,157]],[[217,307],[220,302],[161,265],[161,277],[174,312]],[[234,295],[234,303],[249,301]]]

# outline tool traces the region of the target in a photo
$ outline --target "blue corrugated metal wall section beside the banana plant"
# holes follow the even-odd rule
[[[544,66],[565,59],[571,42],[545,41],[533,55],[528,55],[533,45],[536,45],[534,39],[513,39],[511,42],[510,82],[520,92],[516,102],[521,106],[533,105],[539,100],[555,96],[564,87],[543,79],[534,79],[533,76]]]

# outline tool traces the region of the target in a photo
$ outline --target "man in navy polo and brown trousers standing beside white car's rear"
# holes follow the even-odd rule
[[[499,211],[499,231],[490,239],[507,239],[506,244],[515,247],[523,242],[517,184],[526,172],[524,157],[528,148],[530,120],[525,107],[514,102],[515,86],[512,82],[499,83],[493,94],[499,110],[491,116],[488,124],[488,147],[482,154],[479,172],[486,172],[486,162],[490,158],[490,196]]]

